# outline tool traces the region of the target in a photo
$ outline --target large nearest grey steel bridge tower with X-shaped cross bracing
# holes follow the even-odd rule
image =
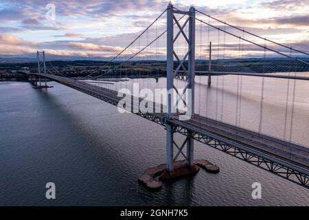
[[[187,20],[183,25],[180,25],[174,14],[182,14],[187,17]],[[176,23],[176,28],[178,33],[174,36],[174,23]],[[184,28],[188,25],[188,36],[184,32]],[[167,123],[166,123],[166,151],[167,151],[167,163],[166,169],[169,173],[174,172],[174,162],[177,157],[181,153],[187,159],[187,166],[194,165],[194,139],[192,138],[192,132],[187,131],[187,138],[183,142],[181,146],[177,146],[174,142],[174,127],[172,124],[168,123],[168,120],[172,119],[173,115],[172,110],[174,109],[174,97],[176,94],[177,101],[185,100],[185,93],[187,94],[187,102],[186,105],[186,115],[187,119],[189,119],[192,115],[194,115],[194,78],[195,78],[195,8],[191,7],[189,11],[183,12],[180,10],[176,10],[172,3],[168,5],[167,11],[167,89],[168,89],[168,98],[167,98]],[[179,56],[174,51],[174,43],[176,39],[183,34],[185,41],[187,42],[187,53],[183,57],[181,61]],[[184,66],[184,62],[187,59],[188,67],[187,69]],[[178,61],[179,66],[174,70],[174,60]],[[186,81],[185,91],[179,93],[174,85],[174,78],[179,76],[179,71],[183,69],[184,80]],[[174,91],[176,90],[176,94]],[[176,110],[178,112],[177,106]],[[184,117],[183,115],[181,115]],[[187,152],[183,153],[183,147],[186,145]],[[174,157],[174,146],[178,152]]]

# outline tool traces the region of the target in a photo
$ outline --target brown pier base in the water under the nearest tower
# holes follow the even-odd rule
[[[211,164],[206,159],[195,159],[193,166],[187,166],[187,161],[184,159],[174,162],[174,171],[172,173],[166,170],[166,164],[161,164],[145,170],[138,180],[149,190],[159,190],[162,188],[162,181],[195,175],[200,170],[200,167],[209,173],[218,173],[220,171],[218,166]]]

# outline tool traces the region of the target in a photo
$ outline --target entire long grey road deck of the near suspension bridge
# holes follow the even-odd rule
[[[30,74],[30,73],[27,73]],[[32,74],[37,75],[37,74]],[[73,89],[77,89],[86,94],[100,98],[106,102],[117,105],[122,97],[117,97],[117,91],[105,89],[89,83],[82,83],[70,78],[54,76],[50,74],[41,74],[41,76],[54,80],[62,85],[67,85]],[[132,103],[134,106],[134,103]],[[142,114],[135,112],[131,107],[129,111],[133,111],[137,115],[148,118],[159,124],[166,122],[173,124],[175,127],[192,131],[199,136],[210,137],[216,142],[225,143],[227,146],[237,147],[241,151],[251,155],[258,155],[258,158],[263,158],[271,162],[275,162],[280,166],[284,166],[293,171],[301,173],[301,175],[308,178],[309,175],[309,148],[300,146],[284,140],[279,140],[275,137],[262,135],[247,129],[242,129],[231,124],[218,122],[209,118],[195,115],[190,120],[178,120],[178,115],[174,114],[172,119],[167,120],[165,113],[146,113]],[[158,107],[155,107],[156,109]],[[163,107],[159,107],[163,109]],[[157,112],[157,111],[156,111]],[[176,130],[177,131],[177,130]],[[180,132],[181,133],[181,132]],[[199,140],[196,138],[196,140]],[[231,154],[231,153],[230,153]],[[306,186],[308,186],[308,179],[306,179]]]

